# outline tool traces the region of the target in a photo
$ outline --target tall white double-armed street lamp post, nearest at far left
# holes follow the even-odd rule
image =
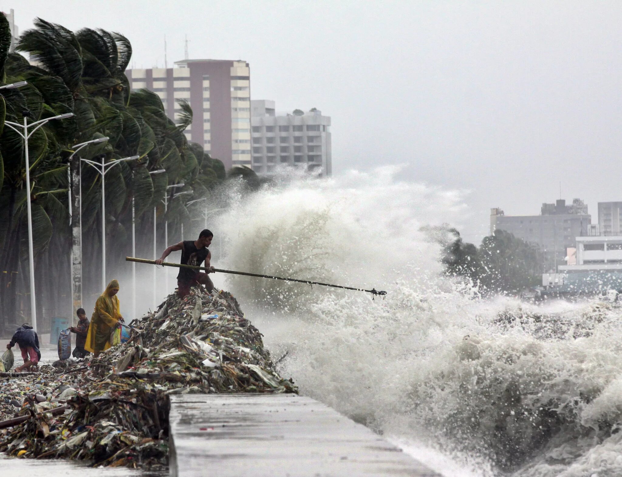
[[[4,89],[11,88],[19,88],[19,86],[24,86],[26,81],[20,81],[19,83],[12,83],[11,85],[6,85]],[[8,88],[11,86],[11,88]],[[34,123],[28,124],[26,116],[24,116],[24,124],[13,123],[12,121],[4,121],[4,124],[11,127],[13,131],[17,132],[19,136],[24,139],[24,159],[26,160],[26,209],[28,212],[28,259],[29,259],[29,267],[30,267],[30,316],[31,316],[31,325],[34,330],[37,330],[37,300],[35,298],[35,261],[34,261],[34,251],[32,247],[32,207],[30,206],[30,162],[28,157],[28,139],[32,134],[34,134],[39,127],[46,124],[48,121],[52,121],[52,119],[66,119],[71,118],[73,113],[65,113],[58,114],[57,116],[53,116],[52,118],[39,119],[39,121],[35,121]],[[28,132],[28,128],[35,126],[32,131]],[[19,131],[20,128],[21,131]]]

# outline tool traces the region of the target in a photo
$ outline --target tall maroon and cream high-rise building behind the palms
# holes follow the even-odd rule
[[[182,60],[175,68],[127,70],[132,90],[160,96],[167,116],[179,119],[176,100],[188,100],[188,141],[203,145],[226,169],[251,166],[251,82],[249,65],[234,60]]]

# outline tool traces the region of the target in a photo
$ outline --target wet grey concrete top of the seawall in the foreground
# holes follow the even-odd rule
[[[439,476],[310,397],[171,396],[169,422],[171,476]]]

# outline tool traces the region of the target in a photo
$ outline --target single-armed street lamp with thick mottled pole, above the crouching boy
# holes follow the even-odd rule
[[[75,312],[82,307],[82,215],[81,215],[81,177],[80,177],[80,156],[74,156],[90,144],[98,144],[108,141],[108,137],[98,137],[91,141],[80,142],[72,146],[72,155],[69,156],[69,169],[67,176],[69,179],[68,205],[69,205],[69,226],[72,228],[72,253],[71,253],[71,285],[72,285],[72,316],[75,320]],[[78,188],[78,192],[76,192]],[[73,216],[73,211],[78,213]]]

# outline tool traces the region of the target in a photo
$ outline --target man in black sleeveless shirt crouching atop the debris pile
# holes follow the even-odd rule
[[[177,295],[179,295],[180,298],[190,294],[190,287],[193,285],[205,285],[205,289],[207,289],[208,292],[214,289],[214,284],[207,275],[214,271],[214,267],[210,266],[211,252],[208,250],[211,239],[213,238],[213,233],[208,229],[203,229],[198,235],[198,240],[184,240],[178,244],[171,245],[162,252],[162,257],[156,260],[156,264],[161,265],[164,259],[169,256],[170,252],[181,250],[182,260],[180,264],[182,265],[201,266],[203,261],[205,261],[205,267],[208,269],[207,273],[189,268],[179,269],[179,275],[177,275]]]

